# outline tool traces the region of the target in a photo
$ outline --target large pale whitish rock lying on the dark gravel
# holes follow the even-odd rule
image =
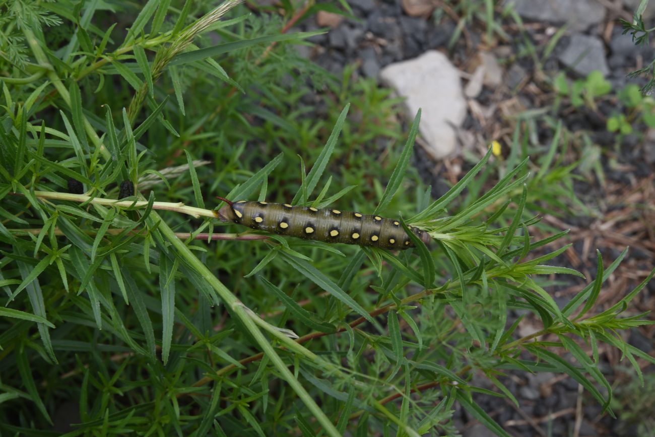
[[[419,108],[419,132],[426,151],[435,159],[457,149],[458,128],[466,117],[459,71],[444,54],[429,50],[418,58],[390,64],[381,71],[382,81],[405,97],[405,110],[411,120]]]

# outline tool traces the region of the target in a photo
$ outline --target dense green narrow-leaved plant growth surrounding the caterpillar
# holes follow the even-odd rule
[[[508,371],[566,373],[611,414],[612,387],[599,370],[599,345],[620,349],[637,372],[637,360],[655,362],[616,335],[651,323],[644,314],[625,314],[653,272],[618,303],[596,311],[603,282],[626,252],[607,267],[599,256],[595,279],[563,308],[540,280],[580,276],[548,265],[566,246],[544,252],[546,246],[565,233],[541,240],[530,235],[538,218],[526,207],[527,186],[547,180],[552,155],[536,176],[528,159],[519,161],[459,209],[457,199],[481,177],[491,153],[440,199],[430,202],[426,191],[414,200],[405,181],[419,114],[386,187],[376,199],[358,198],[353,187],[333,189],[336,173],[325,180],[340,152],[346,106],[310,171],[301,161],[300,183],[281,185],[289,172],[280,164],[288,166],[290,158],[266,157],[256,138],[243,136],[250,142],[234,145],[225,140],[234,137],[214,132],[206,108],[196,107],[198,96],[185,98],[170,67],[184,65],[189,75],[202,71],[233,86],[210,56],[225,54],[221,62],[230,64],[234,48],[271,47],[299,35],[239,39],[227,24],[192,11],[190,2],[174,9],[149,1],[124,42],[109,50],[111,29],[91,24],[95,3],[77,10],[79,20],[64,3],[47,5],[40,10],[73,23],[77,39],[54,50],[38,25],[22,28],[28,62],[43,74],[29,76],[16,60],[3,58],[0,66],[3,432],[455,435],[457,402],[506,436],[476,396],[518,404],[503,383]],[[177,17],[173,29],[160,31],[171,16]],[[238,26],[241,17],[226,23]],[[188,41],[185,29],[207,29],[203,20],[234,41],[204,48],[190,43],[169,56],[174,41]],[[166,98],[165,73],[177,105]],[[131,88],[123,93],[105,79],[85,88],[90,82],[83,79],[96,75]],[[275,85],[257,86],[263,96],[276,95]],[[147,105],[137,116],[141,90]],[[246,115],[230,106],[234,92],[217,95],[200,98],[229,109],[214,119],[225,116],[234,130],[246,129]],[[83,96],[94,104],[83,105]],[[135,109],[124,109],[128,105]],[[110,106],[123,109],[113,113]],[[166,142],[176,135],[193,141]],[[169,161],[181,154],[186,167],[172,167]],[[261,161],[255,172],[240,166],[245,155]],[[162,183],[145,191],[155,177]],[[84,192],[67,192],[69,180],[82,183]],[[136,192],[119,199],[123,181]],[[218,205],[205,200],[214,195],[317,209],[357,203],[363,212],[419,227],[432,242],[417,238],[415,248],[392,252],[252,230],[223,233]],[[510,206],[515,212],[505,223]],[[520,319],[509,323],[510,310],[527,310],[540,329],[518,335]],[[475,385],[475,373],[494,390]],[[71,411],[76,417],[65,427],[53,425]]]

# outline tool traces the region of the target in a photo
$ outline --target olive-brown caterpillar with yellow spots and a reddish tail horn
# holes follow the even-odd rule
[[[291,206],[288,203],[268,203],[230,200],[218,211],[221,221],[289,237],[305,238],[329,243],[358,244],[383,249],[403,250],[414,247],[400,221],[341,211],[333,208]],[[411,231],[424,243],[432,238],[417,227]]]

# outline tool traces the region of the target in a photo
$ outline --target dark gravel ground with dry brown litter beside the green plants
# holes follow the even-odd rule
[[[485,42],[485,29],[481,22],[474,20],[449,49],[447,46],[457,28],[453,20],[457,14],[453,10],[421,18],[408,16],[400,1],[349,0],[348,3],[358,19],[342,20],[326,35],[312,39],[317,47],[309,56],[329,71],[339,73],[346,64],[357,63],[360,75],[377,77],[381,68],[388,64],[415,58],[426,50],[436,49],[448,54],[451,62],[461,71],[471,73],[474,68],[472,60],[479,50],[495,54],[504,69],[502,86],[496,90],[483,90],[476,100],[482,107],[496,105],[498,110],[489,120],[480,120],[469,114],[462,127],[462,131],[468,132],[468,137],[464,138],[477,138],[478,143],[482,144],[488,143],[489,138],[509,140],[514,122],[510,121],[508,115],[552,104],[553,93],[543,76],[554,76],[563,68],[557,55],[565,49],[568,36],[563,37],[552,55],[543,60],[540,71],[534,64],[534,58],[522,55],[525,52],[525,40],[518,26],[508,18],[501,22],[504,31],[510,35],[507,41]],[[457,2],[448,2],[449,5],[454,3]],[[654,56],[654,50],[635,47],[629,37],[622,37],[618,16],[627,17],[629,14],[627,11],[608,10],[605,22],[588,31],[603,39],[610,67],[607,79],[614,89],[625,86],[629,81],[627,73],[649,62]],[[310,20],[300,28],[314,30],[320,26]],[[525,29],[525,36],[541,52],[550,35],[553,35],[553,25],[548,23],[526,22]],[[594,216],[544,218],[553,227],[571,229],[569,240],[574,246],[565,252],[564,257],[560,257],[559,262],[582,271],[588,278],[595,275],[595,248],[601,250],[607,265],[625,246],[631,246],[632,250],[622,267],[608,280],[606,291],[599,299],[601,307],[611,305],[617,300],[616,295],[624,295],[631,290],[655,263],[655,235],[652,227],[655,220],[652,211],[652,205],[655,204],[655,145],[643,139],[641,132],[645,132],[645,126],[637,126],[635,132],[640,134],[626,136],[616,144],[616,136],[607,132],[606,121],[607,117],[620,109],[620,104],[614,98],[603,100],[595,110],[583,108],[559,115],[571,132],[586,132],[593,143],[603,148],[604,153],[600,159],[606,179],[605,183],[601,183],[597,178],[585,176],[576,182],[578,197],[595,212]],[[548,144],[553,129],[546,124],[539,127],[540,142]],[[464,142],[463,147],[471,145]],[[580,152],[569,150],[569,153],[571,161],[574,161]],[[468,166],[457,157],[433,162],[420,150],[414,162],[426,183],[433,186],[436,195],[447,188],[443,179],[458,180]],[[457,168],[460,170],[453,170]],[[648,205],[651,206],[650,212],[647,210]],[[564,305],[584,283],[581,280],[571,280],[567,286],[557,288],[553,297]],[[651,282],[633,301],[633,305],[636,312],[649,311],[654,304],[655,282]],[[530,322],[529,319],[526,321]],[[652,354],[653,338],[653,330],[633,330],[629,333],[628,341]],[[499,401],[489,396],[478,396],[476,400],[515,436],[637,436],[637,424],[645,421],[644,417],[653,415],[655,402],[650,401],[653,404],[648,404],[646,398],[639,405],[631,404],[632,396],[626,390],[630,387],[631,379],[624,372],[627,366],[620,362],[620,352],[601,352],[601,370],[610,383],[617,387],[618,402],[614,411],[618,419],[601,415],[601,406],[588,393],[580,390],[576,381],[547,373],[516,373],[504,380],[519,400],[520,408],[509,401]],[[643,371],[652,372],[652,366],[643,366]],[[479,378],[477,385],[493,389],[484,377]],[[638,385],[634,387],[643,390]],[[549,415],[552,415],[550,419]],[[493,435],[463,409],[457,410],[455,424],[464,436]]]

